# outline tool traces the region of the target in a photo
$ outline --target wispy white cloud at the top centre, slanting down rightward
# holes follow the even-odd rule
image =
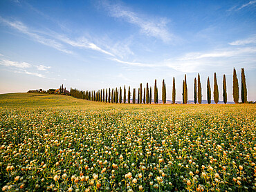
[[[103,1],[103,6],[107,8],[111,17],[122,18],[128,23],[140,28],[140,32],[149,36],[161,39],[164,42],[172,40],[172,34],[167,30],[167,19],[143,17],[136,12],[129,10],[120,4],[110,4]]]

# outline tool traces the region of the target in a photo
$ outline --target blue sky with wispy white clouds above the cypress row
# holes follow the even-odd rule
[[[156,79],[161,98],[165,79],[172,100],[175,77],[181,101],[186,74],[192,100],[199,73],[206,99],[217,73],[219,100],[225,74],[231,102],[233,68],[255,101],[256,1],[0,1],[0,93],[154,89]]]

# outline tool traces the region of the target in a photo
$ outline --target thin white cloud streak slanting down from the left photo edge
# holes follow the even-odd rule
[[[60,50],[62,52],[68,53],[68,54],[73,53],[70,50],[66,50],[63,47],[63,45],[60,44],[59,42],[57,42],[53,39],[47,39],[46,37],[43,37],[42,35],[38,35],[36,32],[33,32],[33,30],[30,30],[27,26],[24,25],[24,23],[22,23],[20,21],[8,21],[8,20],[0,17],[0,22],[5,23],[7,26],[15,28],[16,30],[19,30],[19,32],[22,32],[25,35],[28,35],[31,39],[33,39],[33,41],[37,41],[40,44],[55,48],[57,50]]]

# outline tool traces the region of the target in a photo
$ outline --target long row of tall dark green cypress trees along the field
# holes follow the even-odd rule
[[[234,102],[237,104],[239,99],[239,87],[238,87],[238,79],[237,73],[234,68],[233,70],[233,99]],[[126,95],[128,98],[126,99]],[[71,88],[71,96],[77,97],[80,99],[86,99],[90,101],[96,102],[108,102],[108,103],[126,103],[128,104],[131,102],[133,104],[136,103],[136,88],[132,91],[132,98],[131,98],[131,88],[129,86],[128,93],[126,94],[126,88],[124,87],[123,90],[123,98],[122,98],[122,88],[116,88],[115,90],[112,88],[109,89],[102,89],[102,90],[86,90],[81,91],[77,89]],[[214,89],[213,89],[213,97],[214,102],[217,104],[219,102],[219,88],[217,84],[217,75],[214,73]],[[183,80],[183,89],[182,89],[182,99],[183,104],[188,103],[188,86],[187,86],[187,77],[185,75]],[[175,78],[173,77],[173,84],[172,84],[172,104],[175,103],[176,100],[176,88],[175,88]],[[163,86],[162,86],[162,101],[163,104],[166,104],[166,86],[165,86],[165,79],[163,79]],[[241,68],[241,101],[243,103],[247,102],[247,88],[246,88],[246,78],[244,75],[244,68]],[[198,74],[197,79],[194,78],[194,103],[201,104],[202,102],[202,88],[201,88],[201,80],[200,75]],[[210,79],[207,79],[207,102],[208,104],[211,103],[211,88],[210,88]],[[226,86],[226,75],[223,75],[223,102],[224,104],[227,103],[227,86]],[[143,84],[140,84],[140,88],[138,88],[138,104],[151,104],[152,103],[152,87],[147,83],[147,86],[143,88]],[[158,88],[156,86],[156,79],[154,84],[154,104],[158,104]]]

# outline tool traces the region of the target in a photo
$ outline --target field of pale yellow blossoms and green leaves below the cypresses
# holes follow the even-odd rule
[[[255,104],[0,95],[3,191],[255,191]]]

